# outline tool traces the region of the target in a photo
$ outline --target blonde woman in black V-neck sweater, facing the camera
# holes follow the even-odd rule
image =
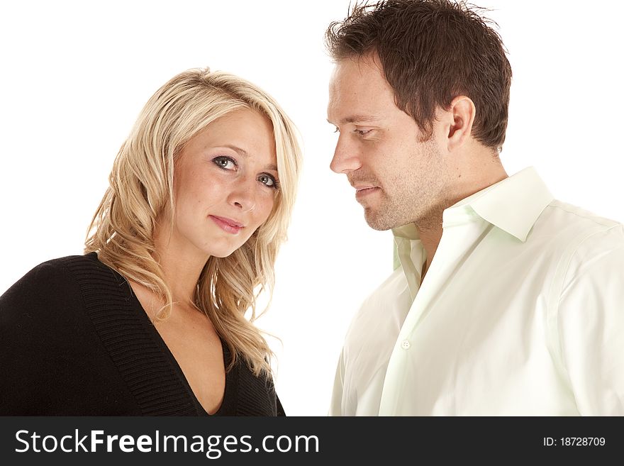
[[[252,321],[300,165],[294,126],[254,85],[167,82],[116,157],[85,255],[0,297],[0,414],[284,414]]]

